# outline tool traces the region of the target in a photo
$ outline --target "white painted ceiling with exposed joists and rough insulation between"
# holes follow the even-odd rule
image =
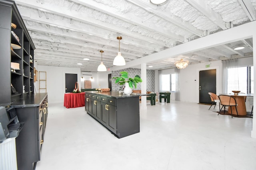
[[[256,20],[256,0],[15,0],[36,46],[38,65],[79,67],[96,72],[101,53],[107,68],[120,52],[126,62],[218,31]],[[235,51],[234,47],[244,46]],[[184,59],[206,63],[252,55],[244,39],[170,59],[147,63],[153,70],[174,68]],[[85,61],[83,58],[89,58]],[[77,65],[82,63],[82,65]]]

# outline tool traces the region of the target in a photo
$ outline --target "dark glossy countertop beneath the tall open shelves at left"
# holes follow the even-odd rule
[[[12,103],[12,106],[16,108],[39,106],[45,99],[46,95],[47,93],[37,93],[37,94],[32,94],[30,96],[25,96],[24,98],[15,100]]]

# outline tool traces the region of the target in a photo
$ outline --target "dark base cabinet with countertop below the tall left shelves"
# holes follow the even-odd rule
[[[46,121],[48,117],[48,95],[38,93],[16,100],[15,107],[18,119],[24,127],[16,138],[18,170],[33,170],[44,143]]]

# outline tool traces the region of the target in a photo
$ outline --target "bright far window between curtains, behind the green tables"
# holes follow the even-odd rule
[[[177,74],[162,75],[162,91],[176,91],[176,75]]]

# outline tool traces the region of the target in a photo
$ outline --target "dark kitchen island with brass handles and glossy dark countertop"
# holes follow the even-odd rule
[[[140,132],[141,94],[86,92],[85,111],[118,138]]]

